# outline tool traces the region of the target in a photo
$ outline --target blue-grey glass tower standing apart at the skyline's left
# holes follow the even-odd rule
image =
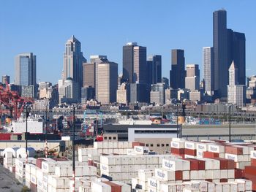
[[[21,53],[15,57],[15,85],[37,84],[37,59],[33,53]]]

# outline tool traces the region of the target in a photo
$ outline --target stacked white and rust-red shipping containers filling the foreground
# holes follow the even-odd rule
[[[173,138],[170,154],[141,142],[94,142],[78,148],[75,183],[72,161],[34,158],[29,148],[7,148],[4,168],[34,192],[256,191],[256,145],[251,141],[200,142]]]

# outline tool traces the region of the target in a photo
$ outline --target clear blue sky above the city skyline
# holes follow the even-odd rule
[[[255,0],[0,1],[0,75],[14,75],[18,53],[37,55],[37,79],[61,78],[64,45],[72,34],[83,55],[108,55],[122,71],[122,46],[138,42],[162,55],[169,78],[170,50],[185,50],[186,64],[202,67],[202,48],[212,46],[212,12],[227,10],[227,27],[246,34],[246,75],[256,74]],[[202,74],[202,73],[201,73]]]

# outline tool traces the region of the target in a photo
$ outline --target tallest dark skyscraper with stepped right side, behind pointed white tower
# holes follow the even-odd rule
[[[245,35],[227,29],[225,9],[213,13],[214,19],[214,94],[227,97],[228,69],[232,62],[238,68],[238,83],[245,85]]]

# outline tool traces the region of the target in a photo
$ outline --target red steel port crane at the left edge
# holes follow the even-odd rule
[[[7,82],[5,85],[6,88],[0,85],[0,115],[10,115],[14,119],[20,118],[24,106],[33,103],[33,99],[21,97],[17,91],[10,91]]]

